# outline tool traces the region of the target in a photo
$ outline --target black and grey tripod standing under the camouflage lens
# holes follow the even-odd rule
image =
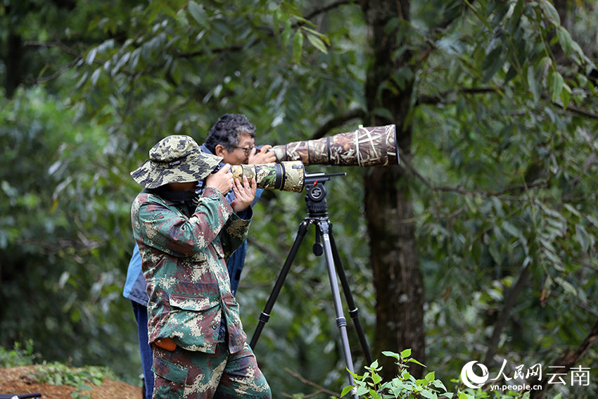
[[[286,279],[286,275],[291,269],[291,264],[295,259],[295,255],[297,255],[301,241],[303,241],[303,238],[307,233],[307,228],[310,226],[310,224],[314,224],[316,227],[316,243],[314,243],[313,252],[317,256],[322,255],[322,253],[325,255],[326,265],[328,267],[328,277],[330,280],[330,287],[334,301],[334,309],[336,310],[336,326],[341,334],[345,365],[351,373],[355,374],[347,336],[347,321],[343,315],[343,305],[341,304],[341,295],[338,291],[338,280],[336,279],[335,269],[336,273],[338,274],[338,278],[341,280],[341,286],[343,286],[343,291],[345,293],[345,298],[349,308],[349,315],[353,321],[353,325],[355,326],[355,331],[357,331],[357,336],[360,339],[360,344],[368,365],[370,365],[373,360],[371,359],[367,340],[360,322],[360,312],[353,301],[353,296],[349,288],[345,270],[343,269],[343,263],[341,262],[341,256],[338,254],[338,249],[336,248],[336,243],[332,234],[332,224],[328,217],[328,205],[326,204],[326,188],[324,187],[324,182],[331,179],[331,177],[341,175],[344,176],[346,173],[334,173],[330,175],[325,175],[324,173],[314,173],[312,175],[305,175],[305,187],[307,188],[307,194],[305,195],[305,203],[307,204],[307,217],[305,217],[303,222],[299,224],[297,236],[295,236],[295,241],[293,241],[291,251],[289,251],[286,260],[284,261],[284,265],[281,269],[279,277],[276,279],[274,289],[272,289],[272,293],[270,293],[264,311],[260,314],[260,320],[257,323],[257,327],[255,328],[255,332],[251,337],[249,345],[251,348],[255,348],[255,344],[260,338],[260,334],[262,334],[262,329],[270,318],[270,312],[272,312],[276,298],[278,297],[282,285],[284,284],[284,279]],[[349,383],[352,385],[353,376],[350,373],[348,373],[348,379]],[[353,391],[353,396],[354,398],[357,398],[355,391]]]

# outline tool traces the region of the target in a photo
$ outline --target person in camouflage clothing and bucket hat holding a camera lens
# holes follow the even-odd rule
[[[148,284],[153,398],[272,398],[246,342],[224,262],[246,239],[255,179],[241,184],[222,158],[169,136],[134,170],[144,186],[131,209]],[[201,196],[194,191],[205,178]],[[223,196],[233,189],[235,200]],[[250,210],[250,208],[248,208]]]

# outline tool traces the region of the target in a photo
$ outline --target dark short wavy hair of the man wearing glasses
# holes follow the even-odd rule
[[[212,153],[215,153],[218,144],[227,148],[227,151],[233,151],[241,134],[249,134],[255,139],[255,125],[243,114],[225,113],[210,127],[205,146]]]

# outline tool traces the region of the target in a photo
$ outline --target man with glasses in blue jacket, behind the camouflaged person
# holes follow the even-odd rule
[[[208,132],[208,137],[205,139],[205,144],[201,146],[201,151],[222,158],[221,166],[226,163],[230,165],[255,165],[276,162],[274,153],[267,152],[269,148],[272,148],[272,146],[265,145],[260,150],[255,148],[255,125],[245,115],[224,114],[210,127],[210,132]],[[260,198],[262,191],[262,189],[257,189],[252,206]],[[229,191],[225,198],[231,203],[235,198],[233,191]],[[240,216],[243,217],[243,213]],[[236,294],[238,282],[241,279],[241,270],[243,270],[245,264],[246,252],[247,241],[243,241],[227,261],[233,295]],[[133,305],[139,335],[141,364],[144,370],[145,398],[151,399],[154,375],[151,372],[153,354],[148,345],[148,296],[146,293],[146,280],[141,272],[141,257],[137,245],[134,247],[129,262],[127,281],[122,295],[131,300]]]

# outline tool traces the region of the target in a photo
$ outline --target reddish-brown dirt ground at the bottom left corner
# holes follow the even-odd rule
[[[76,391],[74,386],[53,386],[31,381],[29,376],[36,367],[0,369],[0,393],[23,395],[39,392],[42,393],[42,398],[46,399],[72,399],[71,394]],[[100,386],[90,386],[93,390],[82,391],[82,393],[91,393],[91,399],[141,399],[141,388],[124,382],[104,379]]]

